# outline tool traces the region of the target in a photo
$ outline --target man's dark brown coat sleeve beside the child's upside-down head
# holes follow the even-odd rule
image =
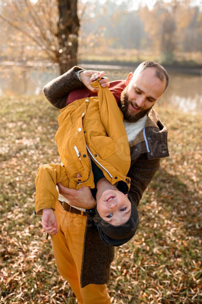
[[[129,193],[132,195],[136,206],[138,206],[143,192],[146,190],[159,167],[160,159],[149,160],[147,159],[146,154],[143,154],[130,167],[128,172],[128,177],[131,178]]]

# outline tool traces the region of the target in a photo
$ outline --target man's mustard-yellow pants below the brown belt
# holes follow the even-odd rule
[[[84,288],[80,286],[87,217],[63,210],[58,201],[55,215],[59,231],[57,235],[51,235],[51,241],[56,265],[59,273],[69,282],[78,304],[110,304],[106,284],[89,284]]]

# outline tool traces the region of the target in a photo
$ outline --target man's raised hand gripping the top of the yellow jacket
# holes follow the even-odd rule
[[[81,82],[92,92],[98,92],[98,88],[91,87],[90,83],[95,81],[97,78],[103,78],[105,75],[105,72],[98,72],[98,71],[82,71],[79,74],[79,77],[81,79]],[[102,87],[109,87],[109,78],[105,77],[101,80],[99,80],[99,83]]]

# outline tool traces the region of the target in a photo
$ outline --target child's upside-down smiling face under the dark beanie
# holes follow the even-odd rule
[[[104,191],[97,202],[97,211],[104,221],[113,226],[124,224],[131,215],[128,194],[112,189]]]

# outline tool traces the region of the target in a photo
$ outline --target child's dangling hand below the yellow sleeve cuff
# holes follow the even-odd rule
[[[42,226],[48,234],[55,235],[57,234],[57,222],[55,213],[52,208],[44,208],[42,215]]]

